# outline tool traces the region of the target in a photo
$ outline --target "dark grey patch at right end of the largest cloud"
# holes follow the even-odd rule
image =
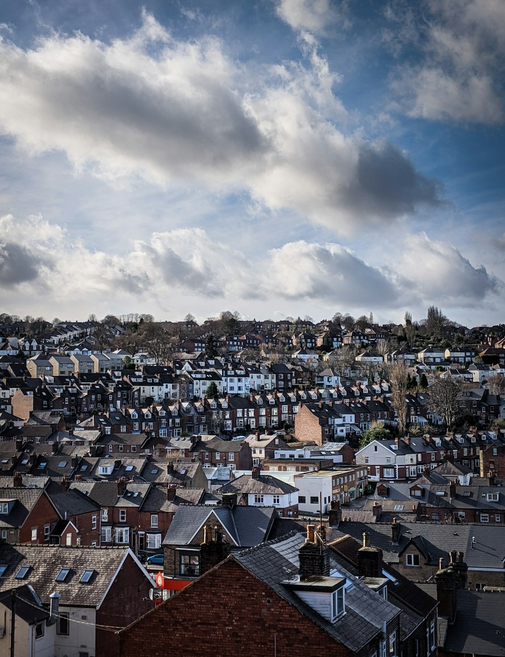
[[[347,193],[347,204],[357,212],[398,217],[425,204],[443,204],[443,185],[416,171],[410,159],[389,143],[363,144],[357,178]]]

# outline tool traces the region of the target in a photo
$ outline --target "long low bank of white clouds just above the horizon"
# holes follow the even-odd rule
[[[240,304],[246,312],[258,304],[291,304],[295,311],[300,302],[323,313],[336,306],[351,312],[433,303],[474,308],[502,292],[484,267],[424,233],[396,244],[394,260],[380,265],[340,244],[303,240],[247,258],[198,228],[153,233],[117,255],[72,242],[42,217],[0,217],[0,235],[4,302],[18,314],[33,314],[40,304],[68,317],[142,306],[159,317],[174,307],[182,312],[188,299],[200,307]]]

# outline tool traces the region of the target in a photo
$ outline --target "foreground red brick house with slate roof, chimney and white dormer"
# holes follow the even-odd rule
[[[380,578],[381,592],[386,582]],[[121,657],[162,654],[173,632],[181,655],[305,657],[311,646],[334,657],[396,655],[399,617],[399,608],[326,548],[321,554],[313,532],[308,541],[295,532],[229,555],[127,627],[120,633]]]

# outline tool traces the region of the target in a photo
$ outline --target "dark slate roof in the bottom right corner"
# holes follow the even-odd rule
[[[502,656],[505,623],[501,595],[456,591],[456,620],[447,625],[444,652]]]

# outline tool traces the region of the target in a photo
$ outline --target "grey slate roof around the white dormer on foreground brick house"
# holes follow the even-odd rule
[[[298,551],[304,542],[303,534],[294,532],[238,553],[234,558],[336,641],[349,650],[357,651],[382,632],[383,620],[389,622],[399,614],[399,610],[368,589],[366,584],[330,556],[330,575],[346,578],[351,586],[345,591],[345,615],[334,623],[328,622],[286,585],[287,581],[299,581]]]

